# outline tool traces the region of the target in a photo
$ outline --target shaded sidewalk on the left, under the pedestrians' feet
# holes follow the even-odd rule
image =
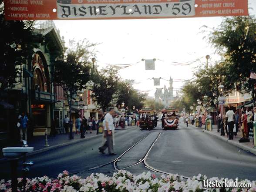
[[[125,127],[124,129],[118,128],[118,129],[115,129],[115,131],[127,130],[127,129],[131,129],[131,128],[137,128],[137,126],[128,126],[128,127]],[[95,137],[102,137],[102,134],[98,134],[98,135],[96,134],[97,131],[92,131],[91,134],[90,134],[90,131],[87,131],[87,132],[88,132],[88,134],[85,134],[84,139],[81,139],[80,135],[77,135],[75,133],[74,133],[74,139],[72,139],[72,140],[68,139],[68,134],[58,134],[58,135],[56,135],[56,137],[48,136],[47,138],[48,138],[49,147],[44,147],[45,136],[34,136],[32,141],[28,142],[29,147],[34,147],[34,151],[31,153],[28,153],[27,155],[34,155],[37,153],[46,152],[51,149],[55,149],[55,148],[63,147],[66,145],[71,145],[74,143],[85,141],[87,139],[91,139],[91,138],[95,138]],[[15,145],[15,146],[17,147],[18,145]],[[20,147],[21,147],[21,144],[20,144]],[[3,157],[2,148],[3,147],[1,147],[1,151],[0,151],[0,162],[7,160],[6,158]]]

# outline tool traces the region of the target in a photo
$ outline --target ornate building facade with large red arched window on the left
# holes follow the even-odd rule
[[[28,139],[44,135],[52,125],[56,101],[52,73],[56,57],[64,50],[64,42],[52,21],[40,24],[35,33],[44,36],[44,44],[34,42],[38,48],[34,48],[25,64],[18,66],[17,83],[4,98],[12,107],[0,114],[0,123],[6,125],[0,130],[3,133],[0,140],[17,139],[17,117],[23,112],[29,118]]]

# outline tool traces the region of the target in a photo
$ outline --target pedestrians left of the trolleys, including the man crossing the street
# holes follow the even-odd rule
[[[100,118],[97,119],[94,116],[81,118],[81,115],[77,114],[76,118],[70,119],[65,115],[63,119],[64,133],[70,133],[70,129],[73,131],[73,126],[75,126],[75,133],[81,135],[81,138],[85,138],[85,134],[92,133],[92,130],[97,131],[97,135],[103,131],[102,146],[99,148],[101,153],[104,153],[104,150],[108,148],[108,153],[110,155],[115,155],[113,146],[115,145],[114,140],[114,131],[119,126],[125,128],[126,126],[135,125],[135,122],[138,121],[138,115],[116,115],[116,112],[113,108],[110,109],[108,113],[100,115]],[[27,128],[29,124],[29,118],[23,112],[18,116],[17,128],[19,130],[20,141],[27,143]],[[50,135],[55,137],[57,134],[57,128],[59,128],[59,118],[55,116],[51,122],[51,132]],[[99,131],[99,128],[102,128],[102,131]]]

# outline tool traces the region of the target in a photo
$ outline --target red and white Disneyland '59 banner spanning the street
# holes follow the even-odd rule
[[[248,0],[4,0],[6,20],[247,16]]]

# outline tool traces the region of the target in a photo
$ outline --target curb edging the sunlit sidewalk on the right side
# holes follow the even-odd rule
[[[198,129],[198,130],[201,129],[203,133],[206,133],[208,135],[212,135],[212,136],[214,136],[214,137],[216,137],[218,139],[221,139],[222,141],[226,141],[227,143],[229,143],[231,145],[234,145],[234,146],[236,146],[238,148],[241,148],[241,149],[245,150],[246,152],[250,152],[250,153],[256,155],[256,149],[255,148],[251,148],[251,147],[248,147],[248,146],[245,146],[245,145],[241,145],[240,143],[237,143],[236,141],[229,140],[226,137],[220,137],[218,135],[213,134],[212,131],[207,131],[207,130],[205,130],[203,128],[196,128],[196,127],[194,127],[192,125],[189,125],[189,126],[192,127],[192,128]]]

